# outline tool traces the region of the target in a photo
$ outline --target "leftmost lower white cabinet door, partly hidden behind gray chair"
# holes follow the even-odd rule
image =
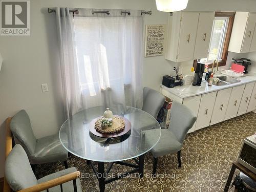
[[[198,115],[198,110],[199,110],[199,105],[200,105],[200,100],[201,100],[201,95],[195,96],[195,97],[189,97],[185,98],[183,100],[183,104],[190,109],[194,115],[197,117]],[[188,133],[194,132],[196,127],[196,122],[194,123],[193,127],[191,127],[190,130],[188,130]]]

